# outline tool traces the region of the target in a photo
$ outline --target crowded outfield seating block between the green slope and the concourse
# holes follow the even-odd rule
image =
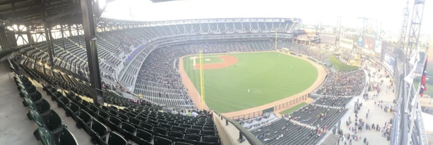
[[[365,87],[364,70],[331,72],[315,91],[319,95],[355,96]]]

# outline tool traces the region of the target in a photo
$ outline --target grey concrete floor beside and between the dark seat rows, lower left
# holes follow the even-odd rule
[[[10,72],[7,61],[0,62],[0,144],[1,145],[42,145],[33,136],[38,125],[29,120],[26,113],[29,107],[22,104],[23,98],[19,96],[16,89],[13,73]],[[75,136],[79,145],[92,145],[90,136],[83,129],[75,126],[75,121],[71,117],[66,117],[65,110],[58,108],[55,101],[51,101],[42,86],[35,84],[39,92],[47,100],[53,110],[55,110],[68,126],[69,131]]]

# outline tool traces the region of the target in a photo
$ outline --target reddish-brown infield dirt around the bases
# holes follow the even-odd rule
[[[233,57],[231,55],[221,55],[221,56],[215,56],[215,57],[220,57],[221,60],[223,60],[223,62],[222,63],[204,63],[203,69],[221,69],[221,68],[232,66],[238,62],[238,58]],[[196,58],[198,58],[198,57],[190,57],[190,59],[194,59],[194,64],[195,64],[194,69],[200,69],[200,63],[196,63],[196,61],[195,61]],[[205,60],[209,61],[210,59],[207,58]]]

